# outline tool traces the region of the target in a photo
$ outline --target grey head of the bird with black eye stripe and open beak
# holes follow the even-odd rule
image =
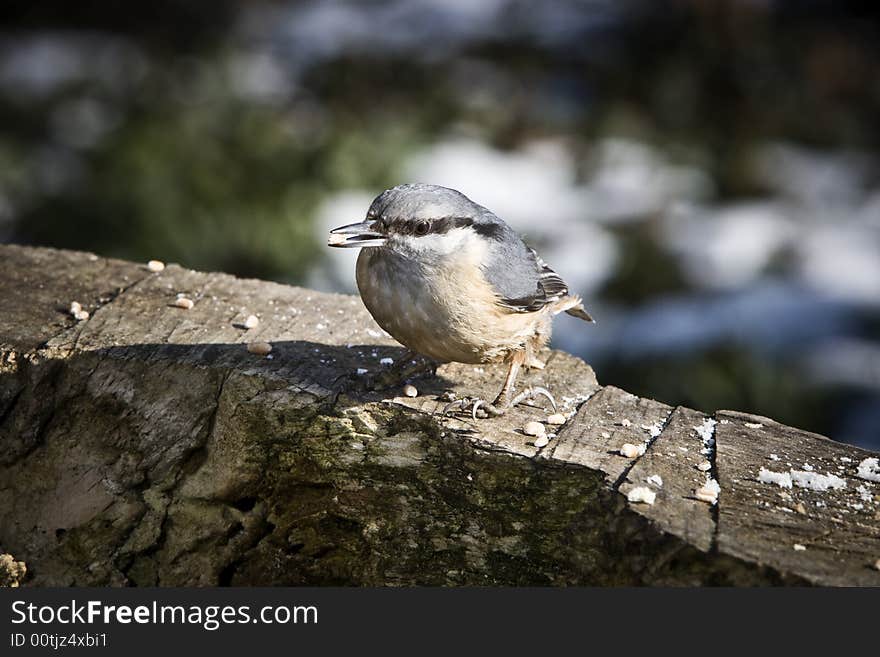
[[[398,185],[375,198],[366,219],[330,231],[330,246],[385,247],[402,255],[444,255],[479,236],[512,233],[501,219],[448,187]]]

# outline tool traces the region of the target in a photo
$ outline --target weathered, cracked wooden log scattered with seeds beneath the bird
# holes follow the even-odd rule
[[[24,585],[880,584],[876,455],[738,413],[701,437],[708,416],[561,352],[522,382],[569,418],[539,449],[521,427],[545,409],[436,413],[498,367],[367,392],[403,350],[355,297],[0,246],[0,300],[0,554]],[[758,481],[808,466],[845,488]]]

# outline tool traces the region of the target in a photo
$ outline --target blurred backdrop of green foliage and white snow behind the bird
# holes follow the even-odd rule
[[[327,232],[385,186],[445,185],[585,297],[598,323],[560,317],[554,344],[603,383],[880,448],[863,4],[22,7],[0,240],[352,292]]]

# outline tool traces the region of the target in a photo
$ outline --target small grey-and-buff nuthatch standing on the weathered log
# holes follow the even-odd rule
[[[553,317],[593,322],[581,298],[522,237],[461,192],[402,184],[373,200],[363,221],[330,231],[328,245],[360,248],[356,280],[369,313],[410,352],[437,362],[506,363],[491,403],[453,401],[477,417],[503,415],[546,388],[514,396],[523,367],[543,368]]]

